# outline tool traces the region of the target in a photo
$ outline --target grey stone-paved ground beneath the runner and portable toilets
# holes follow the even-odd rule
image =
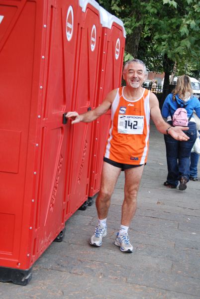
[[[163,136],[151,124],[149,158],[129,229],[134,253],[113,244],[123,200],[121,173],[102,246],[89,245],[97,222],[94,204],[66,222],[64,241],[53,242],[37,260],[27,286],[0,283],[0,299],[200,299],[200,180],[180,191],[163,185],[166,175]]]

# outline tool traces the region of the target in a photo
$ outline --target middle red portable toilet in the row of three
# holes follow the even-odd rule
[[[96,107],[102,24],[100,5],[94,0],[80,0],[79,56],[76,60],[76,86],[73,88],[73,111],[79,114]],[[88,199],[90,163],[93,144],[93,123],[70,125],[68,177],[70,213],[73,214]]]

